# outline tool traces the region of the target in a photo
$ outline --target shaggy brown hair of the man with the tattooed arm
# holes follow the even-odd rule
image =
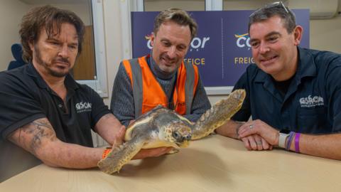
[[[82,51],[82,41],[84,36],[84,23],[75,13],[53,6],[40,6],[33,8],[21,21],[19,35],[23,45],[23,60],[32,61],[32,50],[30,43],[36,43],[40,36],[40,31],[45,28],[48,37],[58,35],[63,23],[70,23],[75,26],[78,37],[78,54]]]

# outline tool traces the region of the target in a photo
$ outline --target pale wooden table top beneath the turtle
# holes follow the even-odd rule
[[[341,161],[247,151],[214,135],[178,154],[131,161],[114,175],[42,164],[0,183],[0,191],[341,191]]]

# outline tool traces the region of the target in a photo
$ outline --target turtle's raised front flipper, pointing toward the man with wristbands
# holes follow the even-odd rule
[[[242,107],[245,99],[245,90],[234,90],[227,99],[220,100],[207,110],[195,122],[192,130],[192,139],[206,137],[215,129],[225,124]]]

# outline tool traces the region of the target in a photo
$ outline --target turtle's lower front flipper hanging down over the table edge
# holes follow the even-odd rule
[[[97,166],[104,173],[113,174],[127,164],[144,146],[146,139],[133,138],[129,142],[121,144],[120,146],[112,149],[107,157],[98,162]]]

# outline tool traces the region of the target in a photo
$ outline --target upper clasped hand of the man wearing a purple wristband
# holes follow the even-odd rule
[[[259,119],[243,124],[241,127],[239,127],[238,134],[240,138],[258,134],[270,145],[278,145],[278,130],[274,129],[274,127],[271,127],[269,124],[266,124]]]

